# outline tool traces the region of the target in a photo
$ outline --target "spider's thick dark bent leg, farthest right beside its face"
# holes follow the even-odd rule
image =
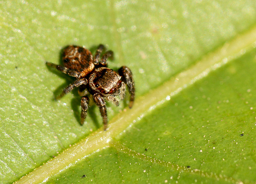
[[[133,103],[134,103],[134,96],[135,96],[135,88],[134,88],[134,80],[132,78],[132,72],[131,72],[130,68],[128,68],[126,66],[122,66],[118,70],[118,72],[119,72],[120,76],[122,76],[123,82],[128,86],[128,90],[131,95],[129,108],[132,108]]]

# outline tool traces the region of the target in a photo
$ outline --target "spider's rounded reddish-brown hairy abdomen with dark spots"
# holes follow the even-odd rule
[[[87,76],[94,69],[92,53],[80,46],[70,45],[64,49],[63,64],[66,68],[80,73],[80,78]]]

